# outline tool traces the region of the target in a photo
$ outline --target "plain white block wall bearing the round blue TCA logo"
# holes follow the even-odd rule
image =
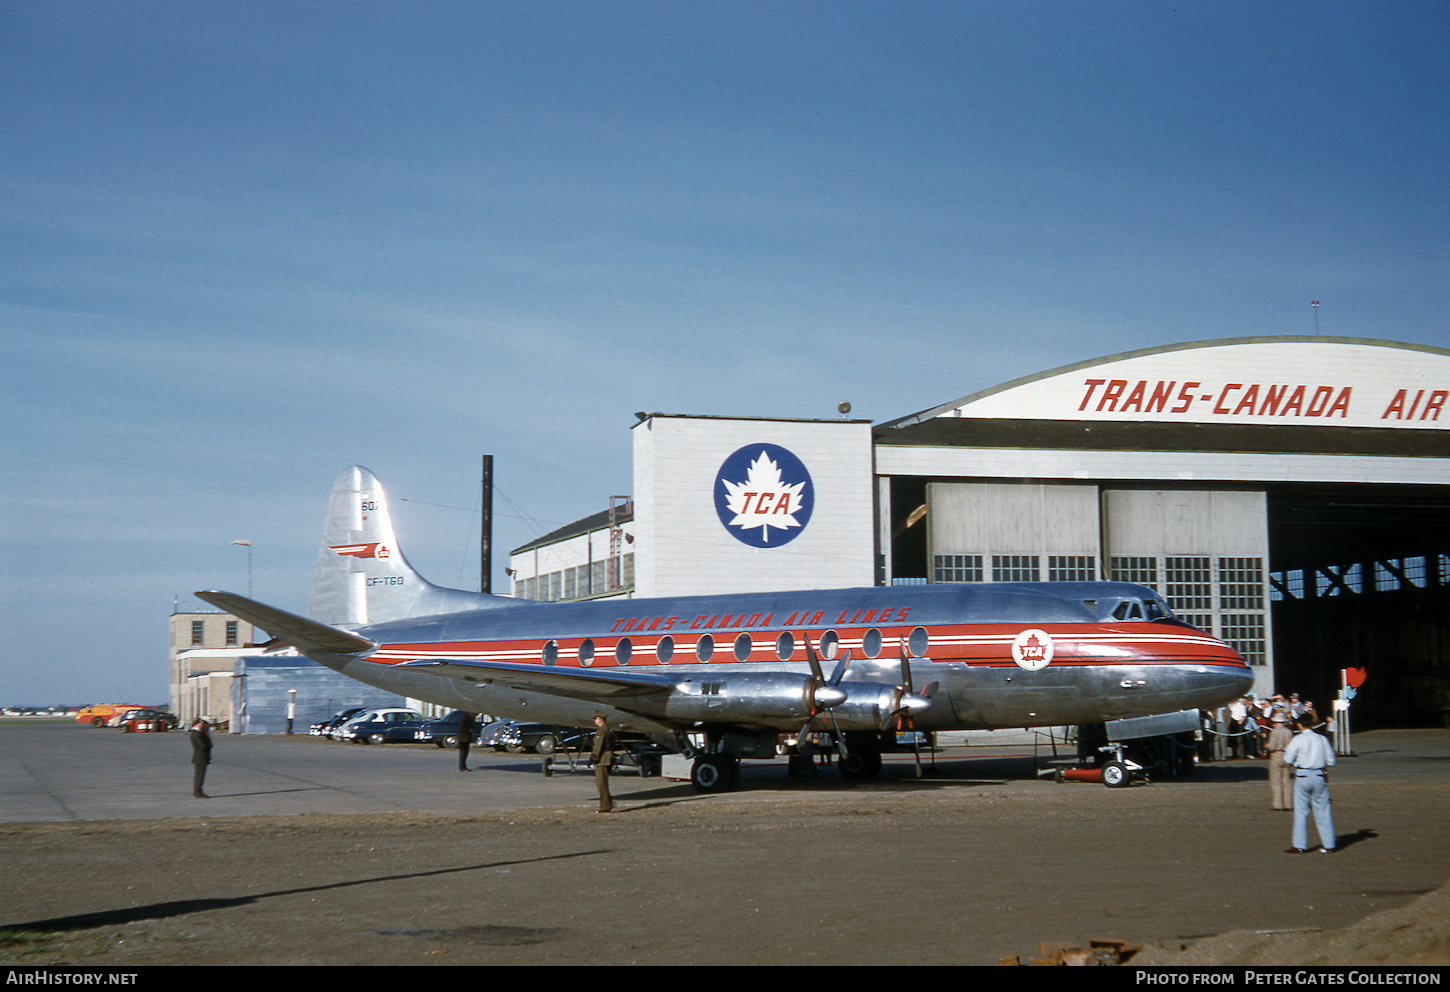
[[[637,596],[874,583],[866,421],[654,413],[634,473]]]

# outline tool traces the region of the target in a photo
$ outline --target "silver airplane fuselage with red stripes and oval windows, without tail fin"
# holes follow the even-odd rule
[[[1112,608],[1151,603],[1159,619]],[[1137,615],[1144,615],[1140,609]],[[935,584],[737,593],[583,603],[513,603],[354,631],[378,644],[348,676],[441,705],[512,719],[621,729],[697,725],[799,729],[824,708],[806,641],[825,670],[848,664],[831,705],[841,729],[880,727],[911,685],[937,685],[918,729],[1095,724],[1211,708],[1241,696],[1253,671],[1222,641],[1172,619],[1130,583]],[[448,677],[418,666],[457,663]],[[668,680],[668,692],[535,690],[480,667]]]

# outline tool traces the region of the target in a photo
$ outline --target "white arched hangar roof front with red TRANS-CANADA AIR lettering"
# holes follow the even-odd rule
[[[880,444],[1450,457],[1450,350],[1264,336],[1093,358],[876,428]]]

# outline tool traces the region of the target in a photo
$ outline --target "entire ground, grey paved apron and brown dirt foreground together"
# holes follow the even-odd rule
[[[29,934],[0,960],[992,964],[1116,937],[1163,962],[1414,911],[1450,877],[1443,729],[1356,737],[1334,857],[1283,853],[1262,761],[1128,789],[1054,783],[1011,744],[947,748],[925,777],[893,756],[869,783],[747,763],[708,796],[624,773],[596,817],[593,776],[560,759],[545,777],[487,750],[460,773],[429,745],[215,741],[203,801],[184,734],[0,721],[0,859],[22,879],[0,935]],[[1443,963],[1367,943],[1344,953]]]

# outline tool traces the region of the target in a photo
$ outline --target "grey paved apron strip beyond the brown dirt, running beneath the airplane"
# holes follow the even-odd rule
[[[1019,792],[1051,786],[1040,776],[1053,761],[1050,747],[1024,740],[990,747],[947,747],[927,756],[935,789]],[[1034,753],[1035,751],[1035,753]],[[1057,759],[1072,751],[1056,748]],[[1354,738],[1356,757],[1334,770],[1335,785],[1360,782],[1450,783],[1450,731],[1375,731]],[[587,756],[583,756],[587,757]],[[0,721],[0,822],[90,819],[164,819],[174,817],[289,817],[300,814],[419,812],[471,815],[509,809],[587,805],[593,774],[583,757],[574,770],[554,756],[554,774],[542,774],[539,756],[473,748],[470,773],[457,770],[457,751],[426,744],[344,744],[306,734],[213,734],[207,801],[191,798],[191,750],[186,732],[122,734],[71,722]],[[1174,788],[1231,788],[1264,780],[1262,761],[1201,766]],[[867,788],[915,780],[911,754],[887,756],[882,779]],[[792,779],[783,760],[745,761],[735,799],[789,801],[792,795],[850,796],[832,769],[816,780]],[[1164,783],[1160,783],[1164,785]],[[1101,788],[1101,786],[1099,786]],[[1260,786],[1264,788],[1264,786]],[[615,776],[615,790],[652,796],[682,785]],[[690,793],[683,786],[683,793]],[[682,795],[683,795],[682,793]]]

